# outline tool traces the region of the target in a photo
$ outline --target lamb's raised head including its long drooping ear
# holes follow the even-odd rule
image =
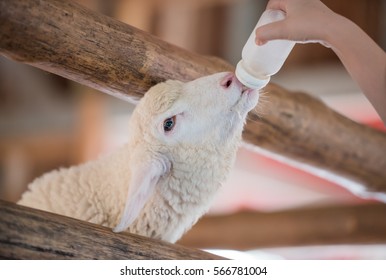
[[[131,181],[124,213],[115,231],[127,229],[157,182],[165,180],[171,172],[176,176],[179,163],[186,164],[193,158],[196,165],[204,165],[204,158],[217,151],[212,157],[221,158],[214,162],[232,165],[245,117],[256,106],[258,97],[258,91],[245,89],[229,72],[187,83],[167,81],[152,87],[130,120]],[[226,154],[231,155],[222,157]],[[226,161],[232,162],[223,163]],[[192,172],[195,169],[196,166],[191,167]],[[208,171],[212,176],[221,172],[225,173]]]

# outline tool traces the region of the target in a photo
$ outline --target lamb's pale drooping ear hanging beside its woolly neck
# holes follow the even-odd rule
[[[113,229],[114,232],[124,231],[131,225],[152,195],[159,178],[169,170],[170,162],[166,158],[138,162],[138,165],[133,167],[125,209],[120,222]]]

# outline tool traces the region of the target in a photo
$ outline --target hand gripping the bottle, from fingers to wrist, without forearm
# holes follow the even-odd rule
[[[319,0],[270,0],[267,9],[282,10],[286,18],[256,29],[256,44],[274,39],[329,46],[329,30],[338,14]]]

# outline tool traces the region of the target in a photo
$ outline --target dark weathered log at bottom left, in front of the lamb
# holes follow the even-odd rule
[[[0,200],[0,259],[221,259]]]

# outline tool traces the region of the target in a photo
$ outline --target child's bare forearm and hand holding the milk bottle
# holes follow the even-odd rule
[[[270,0],[267,9],[286,17],[257,28],[257,45],[283,39],[331,47],[386,124],[386,55],[373,39],[319,0]]]

